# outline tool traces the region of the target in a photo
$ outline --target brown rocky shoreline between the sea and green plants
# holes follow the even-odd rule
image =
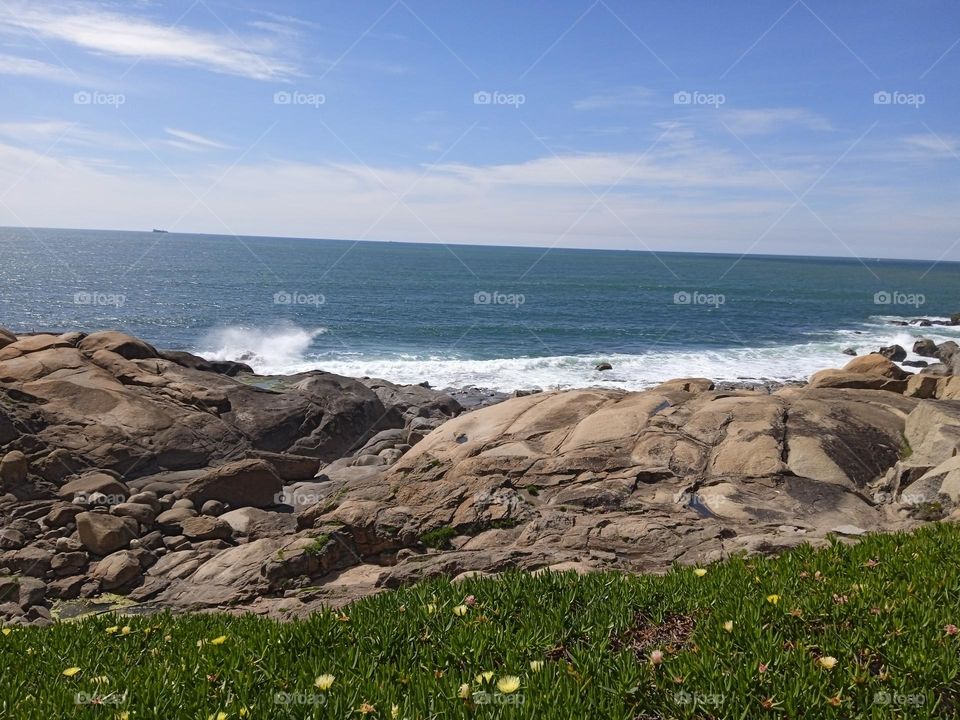
[[[658,571],[960,511],[960,352],[807,384],[441,392],[0,329],[0,618],[285,617],[419,579]]]

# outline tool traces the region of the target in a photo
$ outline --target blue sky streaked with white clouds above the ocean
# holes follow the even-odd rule
[[[0,0],[0,225],[960,260],[954,0]]]

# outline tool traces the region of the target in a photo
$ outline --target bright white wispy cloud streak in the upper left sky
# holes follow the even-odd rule
[[[275,37],[241,38],[167,26],[89,2],[0,3],[0,30],[32,33],[93,53],[199,67],[255,80],[283,80],[297,68],[280,56]]]

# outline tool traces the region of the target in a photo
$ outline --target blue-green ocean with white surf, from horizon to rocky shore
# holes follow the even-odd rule
[[[0,229],[0,325],[119,329],[261,373],[503,391],[799,380],[848,347],[960,340],[890,323],[957,312],[947,262]]]

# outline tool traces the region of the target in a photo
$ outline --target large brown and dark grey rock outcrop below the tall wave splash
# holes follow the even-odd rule
[[[0,443],[31,432],[31,457],[53,482],[79,468],[133,480],[256,452],[330,462],[404,424],[350,378],[312,372],[254,385],[176,359],[185,364],[122,333],[21,337],[0,349],[0,393],[16,398],[0,410]],[[279,465],[289,479],[308,472],[304,460]]]

